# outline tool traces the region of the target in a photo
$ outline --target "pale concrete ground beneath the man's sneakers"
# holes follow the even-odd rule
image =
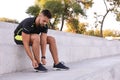
[[[26,69],[15,73],[2,74],[0,80],[120,80],[120,55],[94,58],[66,64],[68,71],[54,71],[46,66],[46,73]]]

